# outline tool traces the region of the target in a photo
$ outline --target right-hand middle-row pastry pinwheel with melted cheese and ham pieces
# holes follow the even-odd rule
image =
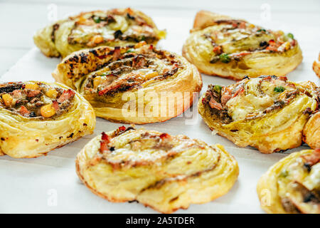
[[[263,153],[299,147],[303,138],[314,144],[319,140],[319,88],[310,81],[260,76],[231,86],[210,85],[198,111],[214,132]],[[310,114],[314,121],[308,126]]]

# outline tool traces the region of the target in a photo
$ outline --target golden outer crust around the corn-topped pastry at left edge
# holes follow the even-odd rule
[[[28,83],[28,82],[42,83],[47,86],[61,88],[63,90],[70,89],[67,86],[64,86],[60,83],[48,83],[48,82],[43,82],[43,81],[25,81],[25,82],[18,82],[18,83],[24,84],[24,83]],[[75,105],[75,104],[81,105],[81,107],[83,108],[83,109],[80,108],[80,110],[82,110],[80,113],[76,113],[81,119],[83,119],[80,122],[77,122],[79,124],[78,125],[79,128],[67,129],[69,131],[66,133],[57,134],[55,132],[55,134],[57,134],[57,135],[54,135],[55,140],[45,140],[45,141],[40,141],[41,138],[46,139],[46,135],[43,136],[44,130],[42,130],[42,128],[38,128],[38,125],[45,125],[45,124],[52,125],[56,121],[65,120],[65,117],[68,117],[68,119],[70,120],[70,117],[73,117],[70,115],[72,115],[73,112],[75,112],[75,110],[78,110],[78,109],[75,108],[72,110],[68,110],[67,113],[62,113],[61,115],[58,116],[57,120],[55,120],[55,119],[50,120],[50,118],[48,118],[49,120],[43,121],[43,120],[39,120],[38,118],[26,118],[23,115],[16,115],[15,113],[11,113],[11,111],[7,110],[6,108],[0,108],[0,110],[2,110],[1,112],[4,112],[3,113],[4,118],[2,118],[1,123],[9,124],[6,122],[7,121],[6,115],[8,115],[9,117],[16,116],[16,117],[14,117],[14,120],[15,121],[18,120],[18,123],[14,124],[15,129],[18,130],[22,126],[23,128],[27,127],[30,129],[38,130],[38,135],[32,135],[32,138],[28,138],[28,137],[21,138],[21,135],[19,135],[19,134],[16,134],[16,135],[3,135],[3,134],[1,134],[0,155],[9,155],[10,157],[16,157],[16,158],[40,157],[43,155],[47,155],[48,152],[50,152],[51,150],[55,150],[56,148],[63,147],[64,145],[67,145],[70,142],[74,142],[76,140],[79,140],[80,138],[82,138],[85,135],[92,134],[93,129],[95,128],[95,113],[94,113],[93,108],[91,107],[90,103],[88,103],[87,100],[85,100],[85,98],[83,98],[79,93],[75,93],[75,98],[73,98],[72,103],[73,103],[73,105]],[[92,118],[90,118],[90,117],[92,117]],[[23,121],[19,121],[19,120],[23,120]],[[12,123],[10,123],[10,124],[12,124]],[[50,129],[52,130],[52,128],[50,128]],[[58,128],[56,128],[55,130],[57,130],[57,129]],[[31,130],[31,131],[26,130],[25,131],[26,134],[24,136],[26,136],[30,132],[33,132],[33,130]],[[52,132],[50,132],[50,135],[51,135],[51,133]],[[61,135],[61,136],[59,137],[58,135]],[[51,136],[53,136],[53,135],[51,135]],[[10,148],[10,145],[12,145],[15,142],[15,140],[18,140],[17,146],[19,146],[19,147],[21,147],[20,144],[23,144],[23,142],[25,142],[26,140],[28,142],[31,142],[30,145],[32,147],[26,148],[26,150],[23,150],[22,152],[15,151],[15,150],[10,150],[10,151],[5,152],[4,149],[8,149],[8,147]],[[32,142],[34,142],[34,144]],[[9,143],[9,145],[4,147],[4,145],[2,145],[2,143]]]

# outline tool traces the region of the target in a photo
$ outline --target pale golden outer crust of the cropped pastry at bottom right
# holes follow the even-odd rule
[[[320,150],[320,148],[316,149]],[[293,152],[287,157],[283,157],[278,162],[274,163],[267,172],[265,172],[257,182],[257,195],[260,200],[260,207],[265,210],[265,212],[269,214],[287,214],[287,212],[281,202],[281,198],[278,195],[278,184],[277,180],[279,178],[280,173],[283,170],[283,166],[287,163],[292,162],[292,160],[297,160],[299,157],[304,157],[306,155],[311,155],[311,153],[315,152],[315,150],[301,150],[299,152]],[[319,161],[318,161],[319,162]],[[281,169],[280,169],[281,168]],[[269,196],[271,202],[269,205],[265,205],[262,203],[264,197],[266,197],[264,190],[269,190]],[[269,199],[269,200],[270,200]],[[293,213],[293,212],[292,212]]]

